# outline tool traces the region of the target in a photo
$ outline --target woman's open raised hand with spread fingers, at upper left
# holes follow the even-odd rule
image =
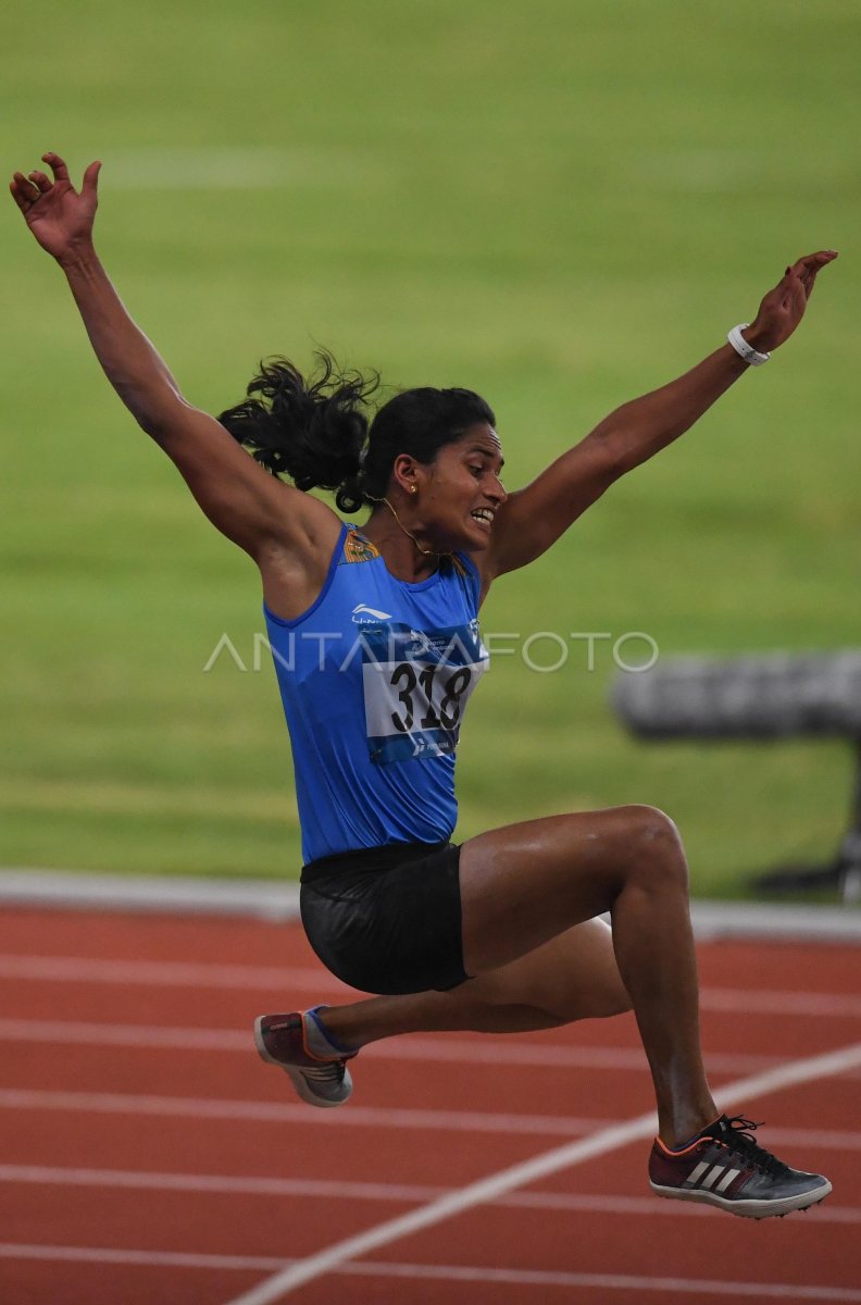
[[[50,151],[42,155],[42,161],[51,168],[53,180],[39,170],[27,176],[16,172],[9,183],[9,191],[42,248],[63,261],[91,241],[102,164],[90,163],[78,192],[72,185],[69,170],[59,154]]]

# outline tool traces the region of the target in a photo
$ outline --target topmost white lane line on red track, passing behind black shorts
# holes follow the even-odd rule
[[[291,990],[367,997],[342,984],[334,975],[313,967],[220,964],[190,960],[106,960],[94,957],[42,957],[0,954],[0,979],[30,979],[50,983],[127,983],[136,987],[232,988],[261,993]],[[744,1011],[763,1015],[861,1015],[861,997],[834,992],[780,992],[757,988],[704,987],[703,1010]]]

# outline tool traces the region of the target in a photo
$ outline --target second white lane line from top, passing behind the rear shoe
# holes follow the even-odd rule
[[[53,1019],[0,1019],[0,1041],[57,1043],[81,1047],[174,1048],[180,1051],[239,1052],[250,1054],[253,1040],[248,1031],[235,1028],[177,1028],[167,1024],[82,1023]],[[557,1047],[515,1040],[489,1041],[480,1037],[416,1037],[386,1039],[373,1043],[364,1060],[438,1061],[471,1065],[534,1065],[541,1069],[609,1069],[648,1073],[643,1051],[638,1047]],[[778,1056],[746,1056],[715,1052],[708,1067],[716,1074],[753,1073],[780,1065]]]

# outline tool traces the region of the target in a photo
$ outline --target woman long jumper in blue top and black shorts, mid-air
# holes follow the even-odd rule
[[[374,1039],[549,1028],[633,1006],[657,1100],[654,1190],[757,1219],[821,1201],[826,1178],[791,1169],[757,1144],[757,1125],[715,1107],[687,869],[667,816],[631,805],[449,839],[488,589],[783,345],[836,254],[800,258],[753,325],[509,495],[493,412],[470,390],[407,390],[369,422],[360,376],[324,360],[305,382],[277,360],[219,420],[192,407],[94,252],[99,164],[78,193],[57,154],[43,161],[52,177],[16,172],[12,194],[63,268],[108,380],[260,568],[296,770],[303,921],[335,975],[378,994],[261,1017],[261,1056],[305,1101],[334,1107],[352,1088],[347,1061]],[[303,492],[314,485],[346,514],[370,506],[368,521],[343,525]]]

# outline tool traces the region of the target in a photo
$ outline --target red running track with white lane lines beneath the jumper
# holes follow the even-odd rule
[[[348,993],[296,925],[4,911],[0,1302],[232,1305],[261,1284],[297,1305],[861,1302],[861,953],[699,958],[712,1084],[789,1066],[727,1104],[831,1177],[824,1205],[754,1223],[660,1201],[643,1138],[404,1232],[403,1215],[648,1111],[631,1018],[394,1039],[363,1052],[347,1107],[314,1111],[250,1039],[264,1010]],[[286,1267],[384,1225],[279,1291]]]

